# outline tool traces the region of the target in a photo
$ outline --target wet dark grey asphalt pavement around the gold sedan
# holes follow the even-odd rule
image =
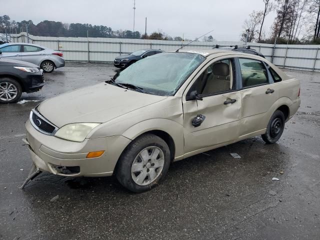
[[[0,105],[0,239],[320,239],[320,73],[285,71],[301,80],[302,102],[277,144],[253,137],[174,162],[139,194],[115,177],[47,173],[19,189],[31,165],[24,122],[38,102]],[[22,98],[113,74],[110,64],[67,63]]]

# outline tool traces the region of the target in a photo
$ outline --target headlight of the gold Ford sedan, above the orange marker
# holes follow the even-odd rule
[[[59,128],[54,135],[65,140],[81,142],[87,134],[99,124],[100,123],[71,123]]]

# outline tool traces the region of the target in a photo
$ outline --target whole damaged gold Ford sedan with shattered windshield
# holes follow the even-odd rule
[[[42,171],[115,174],[127,189],[146,191],[171,161],[256,135],[276,142],[300,105],[299,91],[299,80],[259,56],[156,54],[32,109],[24,141],[34,172],[27,180]]]

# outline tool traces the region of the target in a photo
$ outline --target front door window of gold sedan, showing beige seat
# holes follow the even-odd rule
[[[232,89],[232,64],[230,59],[214,62],[196,80],[198,94],[215,94]]]

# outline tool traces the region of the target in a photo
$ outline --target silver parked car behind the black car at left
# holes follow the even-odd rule
[[[5,43],[0,45],[0,57],[27,61],[40,66],[44,72],[64,66],[63,53],[31,43]]]

